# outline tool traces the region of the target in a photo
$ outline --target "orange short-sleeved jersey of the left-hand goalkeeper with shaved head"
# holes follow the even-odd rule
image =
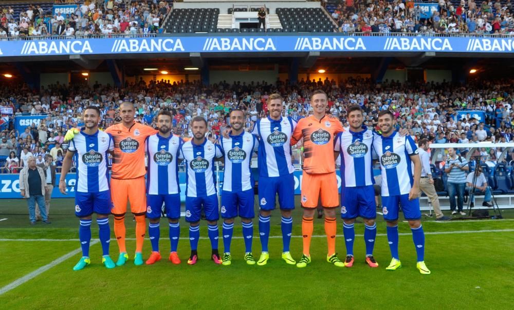
[[[105,132],[110,133],[114,139],[111,178],[126,180],[144,176],[144,143],[157,130],[134,122],[128,129],[120,123],[105,129]]]

